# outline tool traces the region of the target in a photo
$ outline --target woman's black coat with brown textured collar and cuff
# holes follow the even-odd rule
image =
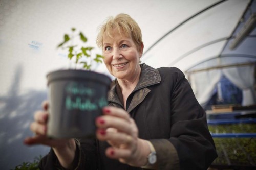
[[[126,110],[138,126],[139,138],[154,145],[158,169],[207,169],[217,153],[205,111],[184,74],[175,67],[154,69],[146,64],[141,67],[139,83],[127,99]],[[117,87],[114,84],[110,90],[109,102],[123,108]],[[107,158],[106,142],[81,140],[80,144],[77,169],[141,169]],[[58,164],[52,151],[50,156],[51,160],[46,157],[41,161],[44,169]]]

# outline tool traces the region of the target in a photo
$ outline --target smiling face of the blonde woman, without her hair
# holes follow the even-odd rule
[[[124,35],[121,36],[115,31],[113,38],[103,36],[103,61],[117,79],[133,81],[140,74],[139,59],[142,56],[143,44],[139,51],[131,36]]]

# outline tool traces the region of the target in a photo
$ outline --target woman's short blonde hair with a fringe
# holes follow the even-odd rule
[[[113,38],[114,30],[117,30],[121,35],[125,34],[127,37],[132,37],[138,50],[142,42],[141,30],[137,22],[127,14],[118,14],[115,18],[108,17],[105,23],[99,27],[99,33],[96,39],[96,43],[99,48],[103,45],[103,36],[109,36]]]

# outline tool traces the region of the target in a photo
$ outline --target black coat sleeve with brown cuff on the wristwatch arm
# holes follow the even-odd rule
[[[207,169],[217,157],[206,113],[184,74],[173,68],[169,139],[150,140],[159,169]]]

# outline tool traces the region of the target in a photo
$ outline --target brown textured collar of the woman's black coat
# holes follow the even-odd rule
[[[155,69],[151,66],[148,66],[145,63],[141,64],[140,66],[141,66],[140,79],[139,79],[139,82],[138,82],[137,86],[133,90],[133,92],[139,90],[139,92],[141,94],[139,96],[143,96],[143,99],[144,99],[145,95],[150,90],[148,90],[148,89],[143,90],[143,88],[160,83],[161,76],[160,76],[159,71],[157,69]],[[136,102],[135,105],[137,106],[143,99],[138,99],[138,101]],[[117,103],[117,104],[122,106],[121,102],[118,99],[117,93],[116,93],[116,80],[113,81],[112,87],[109,91],[108,101],[113,102],[113,103]],[[129,109],[129,110],[131,110],[131,109]]]

